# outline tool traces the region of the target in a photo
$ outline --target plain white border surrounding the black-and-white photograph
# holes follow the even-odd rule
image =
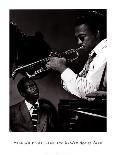
[[[9,129],[9,9],[108,9],[108,132],[107,133],[10,133]],[[110,1],[4,0],[0,5],[0,147],[1,154],[115,154],[115,4]],[[114,42],[115,41],[115,42]],[[115,50],[114,50],[115,49]],[[110,51],[110,52],[109,52]],[[112,52],[112,53],[111,53]],[[5,117],[4,117],[5,116]],[[102,145],[17,145],[14,141],[102,141]]]

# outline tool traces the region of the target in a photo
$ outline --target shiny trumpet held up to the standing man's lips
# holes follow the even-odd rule
[[[46,57],[44,59],[40,59],[36,62],[32,62],[27,65],[22,65],[17,67],[13,72],[12,72],[12,78],[14,79],[15,76],[18,73],[25,73],[27,77],[33,78],[36,76],[40,76],[42,73],[47,72],[49,69],[46,67],[46,63],[49,61],[50,57],[59,57],[59,58],[66,58],[66,64],[71,64],[75,61],[77,61],[79,57],[78,53],[79,49],[70,49],[64,52],[50,52],[49,57]]]

